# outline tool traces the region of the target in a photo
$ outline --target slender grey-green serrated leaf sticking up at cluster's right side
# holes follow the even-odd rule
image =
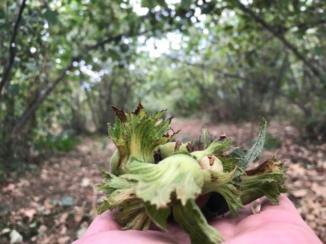
[[[264,147],[265,133],[266,133],[267,121],[264,117],[261,118],[259,124],[259,133],[257,141],[252,145],[252,147],[245,153],[242,154],[241,161],[238,162],[238,167],[246,169],[249,164],[251,164],[257,156],[260,154]],[[236,153],[239,153],[238,151]]]

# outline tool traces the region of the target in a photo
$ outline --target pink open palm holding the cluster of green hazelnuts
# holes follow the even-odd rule
[[[262,198],[259,214],[253,214],[247,205],[239,211],[237,220],[227,214],[224,218],[209,221],[209,224],[219,230],[225,244],[322,244],[293,203],[284,195],[279,199],[280,205],[275,206]],[[73,244],[190,243],[189,237],[177,223],[170,223],[168,232],[155,227],[148,231],[121,231],[120,228],[114,221],[114,214],[106,211],[96,217],[82,238]]]

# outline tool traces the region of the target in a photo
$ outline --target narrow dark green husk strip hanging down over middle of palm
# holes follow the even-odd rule
[[[195,200],[189,199],[185,205],[179,201],[173,202],[172,209],[174,220],[189,234],[193,244],[216,244],[223,241],[220,233],[208,225]]]

